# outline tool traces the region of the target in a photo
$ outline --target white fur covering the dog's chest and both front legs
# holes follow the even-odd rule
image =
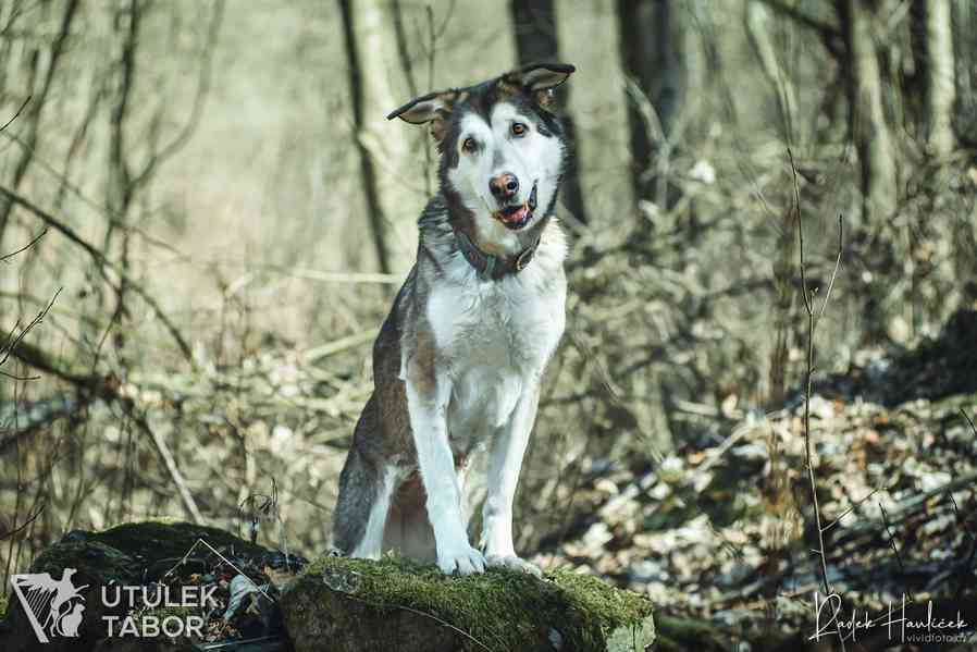
[[[512,544],[512,500],[540,378],[564,331],[564,254],[559,237],[544,241],[532,265],[496,282],[480,280],[459,255],[445,268],[446,282],[429,297],[428,321],[447,365],[438,368],[433,404],[417,395],[409,370],[407,396],[437,561],[445,573],[478,571],[485,561],[528,566],[516,557]],[[468,456],[486,441],[492,452],[483,559],[468,542],[454,456]]]

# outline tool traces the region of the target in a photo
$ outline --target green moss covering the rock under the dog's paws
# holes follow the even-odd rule
[[[324,557],[310,564],[289,592],[306,594],[309,618],[321,616],[317,600],[321,605],[332,596],[326,594],[346,594],[381,613],[408,610],[434,616],[499,651],[552,650],[554,636],[564,650],[603,651],[620,630],[627,631],[616,635],[622,641],[651,636],[646,598],[568,570],[549,573],[546,581],[502,569],[446,577],[434,566],[397,557]],[[337,629],[347,625],[338,623]]]

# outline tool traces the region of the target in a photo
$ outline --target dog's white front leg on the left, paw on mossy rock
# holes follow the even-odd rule
[[[485,559],[468,542],[455,456],[448,443],[447,406],[452,382],[433,365],[412,362],[407,369],[407,408],[421,480],[428,494],[428,518],[434,530],[437,565],[452,575],[484,573]]]

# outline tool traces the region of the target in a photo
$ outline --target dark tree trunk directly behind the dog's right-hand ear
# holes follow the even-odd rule
[[[512,15],[512,29],[516,36],[516,54],[519,59],[519,65],[560,60],[554,0],[540,0],[539,2],[511,0],[509,11]],[[569,88],[559,86],[554,91],[554,96],[556,106],[562,109],[562,122],[567,128],[567,138],[570,143],[570,162],[564,173],[564,184],[560,193],[562,204],[578,222],[586,224],[586,207],[580,188],[580,174],[577,167],[577,125],[567,111]]]

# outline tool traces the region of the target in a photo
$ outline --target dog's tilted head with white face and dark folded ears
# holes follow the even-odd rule
[[[426,124],[441,151],[442,190],[475,222],[480,239],[504,246],[556,199],[567,147],[548,110],[572,65],[537,63],[488,82],[416,98],[393,111]]]

